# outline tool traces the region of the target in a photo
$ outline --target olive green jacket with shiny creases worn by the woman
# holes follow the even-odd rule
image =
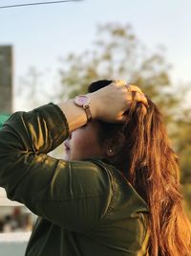
[[[26,256],[148,255],[148,206],[99,159],[47,153],[69,134],[57,105],[16,112],[0,129],[0,186],[39,216]]]

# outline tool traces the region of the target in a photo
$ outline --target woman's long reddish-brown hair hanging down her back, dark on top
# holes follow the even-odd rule
[[[89,92],[111,81],[96,81]],[[151,256],[191,255],[191,224],[182,207],[178,156],[172,150],[159,108],[133,101],[125,124],[99,123],[100,143],[125,135],[113,164],[149,206]]]

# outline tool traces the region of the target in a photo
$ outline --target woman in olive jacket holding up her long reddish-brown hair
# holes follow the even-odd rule
[[[27,256],[190,255],[159,110],[138,87],[111,82],[17,112],[0,130],[0,185],[39,216]],[[64,140],[64,160],[47,155]]]

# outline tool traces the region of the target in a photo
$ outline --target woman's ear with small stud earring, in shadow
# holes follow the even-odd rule
[[[122,132],[117,134],[106,142],[106,155],[107,157],[115,156],[122,150],[125,144],[125,135]]]

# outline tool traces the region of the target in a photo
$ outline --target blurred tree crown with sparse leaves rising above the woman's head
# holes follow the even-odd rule
[[[160,47],[149,53],[140,43],[130,25],[121,26],[109,23],[98,26],[93,49],[80,55],[69,54],[63,59],[60,78],[70,97],[84,93],[91,81],[97,79],[124,79],[141,86],[146,94],[163,107],[173,105],[177,99],[166,88],[171,85],[166,63]],[[70,88],[70,89],[68,89]],[[59,92],[59,97],[62,94]],[[168,107],[166,107],[168,108]]]

